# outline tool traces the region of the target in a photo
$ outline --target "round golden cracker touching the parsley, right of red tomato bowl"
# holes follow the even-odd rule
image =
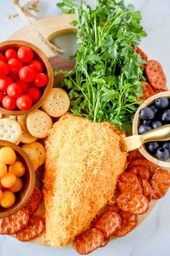
[[[69,105],[67,92],[61,88],[52,88],[42,108],[51,117],[61,117],[69,110]]]

